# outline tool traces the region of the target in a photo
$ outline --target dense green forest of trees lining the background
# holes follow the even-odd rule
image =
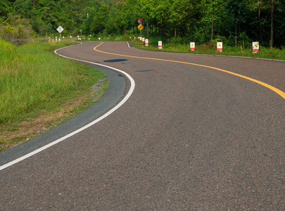
[[[143,18],[144,36],[170,42],[285,46],[285,0],[1,0],[0,12],[7,39],[55,37],[60,25],[63,36],[139,34]]]

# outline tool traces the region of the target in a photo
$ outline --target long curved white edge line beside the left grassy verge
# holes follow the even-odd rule
[[[61,49],[65,49],[65,48],[68,48],[68,47],[70,47],[70,46],[67,46],[67,47],[64,47],[64,48],[61,48]],[[57,49],[56,51],[61,50],[61,49]],[[58,54],[56,51],[54,51],[54,53]],[[67,57],[67,56],[63,56],[63,55],[61,55],[61,54],[58,54],[58,56],[62,56],[62,57],[64,57],[64,58],[70,58],[70,57]],[[17,158],[17,159],[15,159],[15,160],[11,161],[11,162],[6,163],[5,165],[0,166],[0,171],[6,169],[7,167],[10,167],[11,165],[14,165],[14,164],[17,163],[17,162],[20,162],[20,161],[22,161],[22,160],[25,160],[26,158],[30,158],[32,155],[35,155],[35,154],[37,154],[37,153],[39,153],[39,152],[41,152],[41,151],[44,151],[45,149],[50,148],[50,147],[53,146],[53,145],[56,145],[56,143],[59,143],[59,142],[65,140],[65,139],[68,139],[70,136],[73,136],[73,135],[75,135],[75,134],[78,134],[79,132],[82,132],[84,129],[87,129],[88,127],[91,127],[92,125],[96,124],[97,122],[100,122],[100,121],[103,120],[105,117],[108,117],[108,115],[110,115],[110,114],[113,113],[115,110],[117,110],[118,108],[120,108],[120,107],[129,99],[129,97],[132,95],[132,93],[133,93],[133,91],[134,91],[134,87],[135,87],[135,82],[134,82],[134,79],[133,79],[129,74],[127,74],[127,72],[124,72],[124,71],[122,71],[122,70],[118,70],[118,69],[116,69],[116,68],[109,67],[109,66],[107,66],[107,65],[101,65],[101,64],[99,64],[99,63],[92,63],[92,62],[89,62],[89,61],[86,61],[86,60],[80,60],[80,59],[76,59],[76,58],[70,58],[70,59],[72,59],[72,60],[77,60],[77,61],[84,62],[84,63],[90,63],[90,64],[93,64],[93,65],[99,65],[99,66],[102,66],[102,67],[105,67],[105,68],[109,68],[109,69],[111,69],[111,70],[115,70],[115,71],[117,71],[117,72],[121,72],[121,73],[124,74],[124,75],[129,79],[129,81],[131,82],[131,86],[130,86],[130,88],[129,88],[129,91],[128,91],[127,95],[125,96],[125,98],[122,99],[122,101],[120,101],[120,103],[119,103],[117,106],[115,106],[114,108],[112,108],[111,110],[109,110],[106,114],[104,114],[103,116],[101,116],[101,117],[99,117],[98,119],[94,120],[93,122],[90,122],[89,124],[85,125],[84,127],[81,127],[80,129],[75,130],[75,132],[72,132],[72,133],[70,133],[70,134],[67,134],[67,135],[63,136],[61,139],[57,139],[56,141],[53,141],[53,142],[51,142],[51,143],[49,143],[49,144],[47,144],[47,145],[45,145],[45,146],[42,146],[41,148],[38,148],[38,149],[35,150],[35,151],[32,151],[31,153],[28,153],[27,155],[24,155],[24,156],[22,156],[22,157],[20,157],[20,158]]]

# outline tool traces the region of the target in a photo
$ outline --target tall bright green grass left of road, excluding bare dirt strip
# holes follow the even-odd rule
[[[53,53],[66,45],[32,41],[13,46],[0,39],[0,124],[23,119],[31,110],[48,109],[105,77]]]

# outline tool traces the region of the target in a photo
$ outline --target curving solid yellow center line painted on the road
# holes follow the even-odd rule
[[[101,42],[101,44],[103,44],[103,42]],[[95,46],[94,50],[98,51],[98,52],[101,52],[101,53],[108,53],[108,52],[100,51],[100,50],[97,49],[97,47],[101,46],[101,44],[99,44],[98,46]],[[242,77],[244,79],[248,79],[251,82],[255,82],[257,84],[260,84],[263,87],[267,87],[268,89],[271,89],[272,91],[274,91],[275,93],[279,94],[279,96],[281,96],[282,98],[285,99],[285,93],[283,91],[281,91],[280,89],[272,87],[270,84],[266,84],[264,82],[260,82],[260,81],[258,81],[256,79],[251,78],[251,77],[246,77],[244,75],[239,75],[239,74],[234,73],[234,72],[230,72],[230,71],[227,71],[227,70],[222,70],[220,68],[214,68],[214,67],[210,67],[210,66],[206,66],[206,65],[199,65],[199,64],[195,64],[195,63],[187,63],[187,62],[182,62],[182,61],[178,61],[178,60],[167,60],[167,59],[162,59],[162,58],[148,58],[148,57],[141,57],[141,56],[127,56],[127,55],[122,55],[122,54],[118,54],[118,53],[108,53],[108,54],[112,54],[112,55],[116,55],[116,56],[125,56],[125,57],[130,57],[130,58],[144,58],[144,59],[150,59],[150,60],[163,60],[163,61],[172,62],[172,63],[182,63],[182,64],[187,64],[187,65],[195,65],[195,66],[199,66],[199,67],[203,67],[203,68],[210,68],[210,69],[213,69],[213,70],[219,70],[219,71],[222,71],[222,72],[227,72],[227,73],[229,73],[231,75],[236,75],[238,77]]]

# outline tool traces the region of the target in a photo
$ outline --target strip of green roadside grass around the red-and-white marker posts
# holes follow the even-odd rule
[[[195,51],[191,51],[190,43],[184,41],[173,43],[168,40],[163,42],[163,49],[158,49],[158,41],[161,41],[161,37],[149,37],[148,46],[142,44],[142,41],[138,39],[137,34],[129,35],[116,35],[116,36],[104,36],[99,34],[91,39],[84,38],[82,41],[128,41],[136,49],[144,49],[147,51],[161,51],[172,53],[194,53],[194,54],[208,54],[208,55],[220,55],[220,56],[243,56],[251,58],[267,58],[274,60],[285,60],[285,47],[270,48],[260,46],[258,53],[253,53],[251,43],[241,44],[239,47],[227,45],[227,41],[223,42],[222,52],[217,51],[217,41],[223,41],[221,39],[215,39],[206,43],[196,43]]]

